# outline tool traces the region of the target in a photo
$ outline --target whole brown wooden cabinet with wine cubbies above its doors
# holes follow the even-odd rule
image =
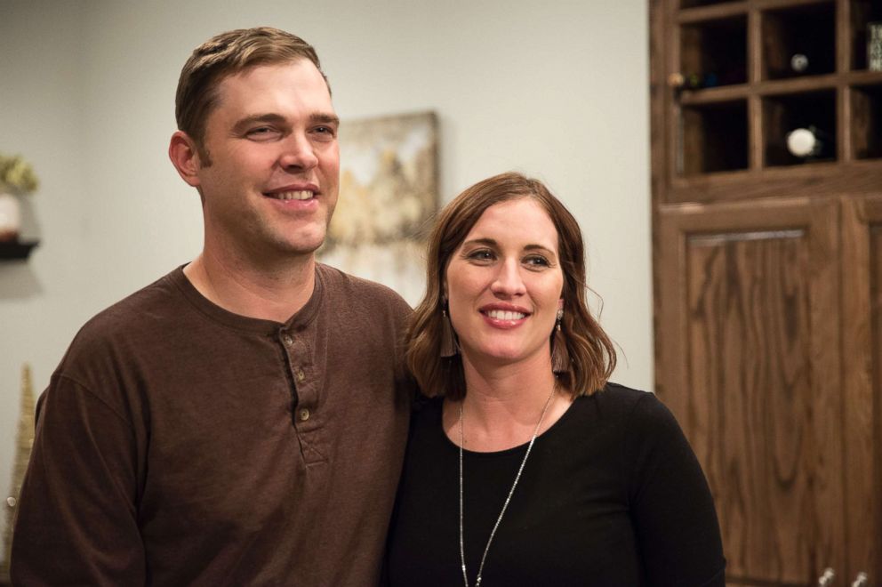
[[[875,0],[650,3],[656,383],[727,582],[882,585]],[[822,149],[794,154],[811,130]]]

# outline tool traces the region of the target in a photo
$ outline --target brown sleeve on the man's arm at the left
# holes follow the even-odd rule
[[[55,374],[38,403],[12,541],[12,583],[140,585],[132,425]]]

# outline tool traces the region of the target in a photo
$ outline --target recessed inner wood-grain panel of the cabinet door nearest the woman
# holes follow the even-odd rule
[[[706,461],[739,568],[797,581],[814,513],[804,231],[733,232],[686,245],[686,385],[708,409]],[[716,408],[716,409],[715,409]],[[714,458],[718,455],[718,458]],[[710,458],[707,458],[710,457]],[[712,464],[711,464],[712,463]],[[774,557],[769,557],[774,553]],[[743,574],[739,573],[739,574]]]

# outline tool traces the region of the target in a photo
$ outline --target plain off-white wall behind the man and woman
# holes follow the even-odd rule
[[[546,181],[589,243],[615,379],[653,385],[646,0],[0,0],[0,151],[42,180],[43,239],[0,263],[0,495],[20,365],[44,388],[76,328],[191,259],[196,192],[165,149],[189,52],[268,24],[317,47],[338,113],[434,109],[442,194],[516,169]]]

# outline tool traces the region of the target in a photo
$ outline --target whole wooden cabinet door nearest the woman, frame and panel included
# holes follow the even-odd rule
[[[666,207],[657,390],[710,483],[732,583],[841,568],[838,207]]]

